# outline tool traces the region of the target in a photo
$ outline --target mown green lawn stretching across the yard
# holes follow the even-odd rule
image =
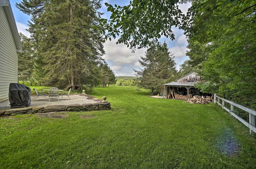
[[[73,112],[63,119],[1,118],[1,167],[255,167],[256,139],[213,103],[149,98],[135,87],[95,88],[92,95],[106,95],[113,110]],[[94,117],[80,119],[81,114]],[[237,153],[225,153],[229,142],[239,145]]]

